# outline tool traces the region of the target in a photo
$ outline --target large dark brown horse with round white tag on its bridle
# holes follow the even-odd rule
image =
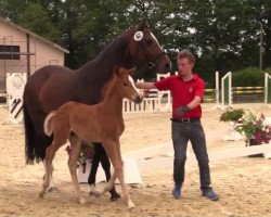
[[[146,73],[167,73],[171,67],[156,38],[142,22],[76,71],[53,65],[38,69],[27,80],[23,95],[26,163],[43,161],[46,149],[52,142],[52,137],[43,132],[46,116],[68,101],[99,103],[101,89],[112,78],[115,65],[136,66],[137,71]]]

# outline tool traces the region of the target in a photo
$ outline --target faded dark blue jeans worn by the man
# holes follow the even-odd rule
[[[172,122],[171,135],[175,149],[175,183],[181,187],[184,181],[186,149],[188,142],[191,141],[199,167],[201,189],[210,189],[209,158],[207,153],[205,133],[201,120],[196,120],[193,123]]]

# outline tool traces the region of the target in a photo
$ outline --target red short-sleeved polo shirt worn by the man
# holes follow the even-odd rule
[[[172,111],[175,111],[179,106],[188,105],[191,101],[194,100],[195,95],[198,95],[203,100],[205,82],[196,74],[193,73],[193,75],[194,77],[189,81],[184,81],[180,75],[173,75],[163,80],[154,82],[155,87],[158,90],[170,90],[172,95]],[[202,117],[201,104],[183,115],[177,115],[172,113],[172,117],[201,118]]]

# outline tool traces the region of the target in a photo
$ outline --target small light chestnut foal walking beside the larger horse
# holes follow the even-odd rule
[[[143,97],[136,88],[131,71],[119,68],[116,76],[109,82],[103,101],[99,104],[87,105],[78,102],[67,102],[57,111],[51,112],[44,122],[44,132],[48,136],[54,135],[52,144],[46,151],[46,175],[42,190],[39,195],[43,196],[50,182],[52,161],[55,152],[66,143],[73,131],[74,142],[72,143],[72,153],[68,159],[68,167],[75,188],[76,196],[79,203],[85,203],[81,195],[76,168],[77,159],[80,154],[81,141],[101,142],[105,148],[107,155],[114,167],[114,174],[106,187],[99,195],[104,194],[113,188],[115,179],[118,178],[124,199],[129,208],[133,207],[129,192],[124,180],[122,158],[120,153],[119,137],[125,130],[122,118],[122,99],[128,98],[134,102],[141,102]]]

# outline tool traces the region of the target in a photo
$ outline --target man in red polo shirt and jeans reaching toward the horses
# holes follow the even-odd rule
[[[195,58],[186,50],[177,55],[179,75],[167,77],[156,82],[138,82],[141,89],[170,90],[172,95],[172,124],[171,133],[175,150],[172,194],[176,199],[181,196],[184,181],[184,165],[189,140],[196,155],[202,195],[212,201],[219,195],[210,187],[209,159],[206,148],[205,133],[201,124],[201,102],[204,97],[204,80],[192,73]]]

